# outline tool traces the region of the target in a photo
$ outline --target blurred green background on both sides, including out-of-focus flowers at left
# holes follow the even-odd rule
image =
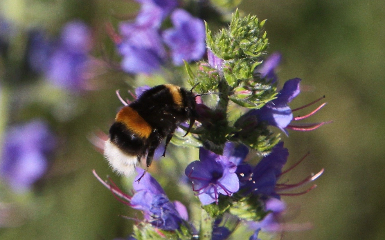
[[[0,140],[13,140],[10,149],[30,143],[25,152],[44,173],[24,173],[22,167],[7,173],[7,166],[2,167],[6,180],[0,188],[0,239],[112,239],[131,233],[133,221],[118,215],[134,213],[91,171],[109,174],[120,185],[128,183],[111,172],[90,142],[97,139],[95,133],[108,131],[121,106],[115,90],[129,96],[126,89],[133,84],[129,75],[114,70],[113,62],[100,63],[116,57],[106,23],[134,18],[138,7],[128,0],[0,0]],[[383,239],[385,3],[244,0],[239,8],[268,19],[268,51],[283,56],[280,80],[303,79],[303,92],[291,107],[326,95],[328,105],[310,119],[333,120],[317,130],[291,131],[283,137],[289,165],[311,152],[287,178],[301,180],[325,168],[317,188],[283,198],[293,209],[291,222],[312,222],[315,227],[284,233],[283,239]],[[63,29],[75,29],[83,41],[68,40]],[[55,40],[59,36],[61,40]],[[87,45],[88,50],[68,52],[67,43]],[[54,47],[58,58],[71,56],[76,66],[93,63],[82,76],[87,84],[47,81],[65,71],[40,63]],[[36,49],[31,58],[27,53]],[[161,78],[146,80],[139,78],[136,84],[164,83]],[[42,139],[48,142],[43,147]],[[182,152],[187,155],[188,150]],[[27,157],[2,154],[7,159]],[[187,158],[184,155],[180,158]],[[12,180],[22,173],[30,178]],[[172,189],[169,181],[163,183]]]

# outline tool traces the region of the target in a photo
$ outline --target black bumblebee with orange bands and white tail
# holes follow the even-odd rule
[[[116,115],[105,142],[104,156],[118,173],[131,175],[142,157],[146,171],[155,149],[166,138],[163,156],[179,123],[189,120],[186,135],[197,118],[195,97],[185,88],[158,85],[142,93]],[[186,136],[185,135],[185,136]]]

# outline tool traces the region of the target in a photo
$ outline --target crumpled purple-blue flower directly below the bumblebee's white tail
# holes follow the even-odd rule
[[[133,183],[136,193],[131,198],[131,207],[142,210],[144,218],[154,227],[169,231],[178,229],[182,220],[188,218],[186,208],[180,202],[170,202],[161,185],[149,173],[137,182],[144,170],[137,168],[137,172]]]

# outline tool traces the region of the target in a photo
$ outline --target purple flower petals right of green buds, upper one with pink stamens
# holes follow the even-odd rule
[[[293,120],[293,113],[288,103],[300,93],[300,82],[300,78],[286,81],[276,99],[266,103],[260,109],[249,111],[246,115],[256,116],[259,121],[266,121],[269,125],[280,128],[288,135],[285,128]]]

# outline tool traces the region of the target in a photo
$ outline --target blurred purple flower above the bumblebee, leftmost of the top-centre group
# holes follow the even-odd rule
[[[121,23],[122,42],[117,46],[123,56],[122,68],[129,73],[159,71],[166,51],[156,28],[142,27],[136,23]]]

